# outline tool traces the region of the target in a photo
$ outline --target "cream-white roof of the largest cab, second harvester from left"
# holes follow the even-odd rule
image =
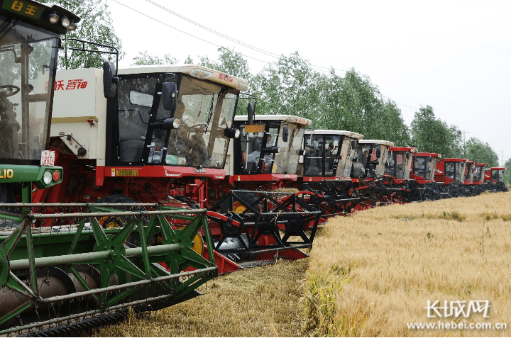
[[[248,90],[248,81],[231,77],[217,70],[199,66],[197,64],[151,64],[148,66],[133,66],[119,69],[119,75],[128,74],[146,74],[146,73],[184,73],[197,79],[213,81],[218,84],[224,84],[240,91]]]

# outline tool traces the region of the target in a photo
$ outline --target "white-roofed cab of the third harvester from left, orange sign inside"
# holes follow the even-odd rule
[[[233,128],[240,137],[232,142],[226,166],[233,186],[237,181],[296,181],[304,130],[311,123],[290,115],[257,115],[252,123],[236,116]]]

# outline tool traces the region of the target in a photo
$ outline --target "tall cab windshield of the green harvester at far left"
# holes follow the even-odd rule
[[[56,33],[0,16],[0,161],[40,163],[48,143]]]

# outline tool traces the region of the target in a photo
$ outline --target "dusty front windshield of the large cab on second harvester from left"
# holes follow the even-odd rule
[[[167,144],[167,164],[223,169],[238,91],[219,84],[182,76],[175,118]]]

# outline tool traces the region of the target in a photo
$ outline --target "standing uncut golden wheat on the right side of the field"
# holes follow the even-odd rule
[[[330,220],[314,240],[303,329],[311,336],[507,336],[510,329],[409,329],[407,323],[511,327],[511,192],[389,205]],[[428,318],[427,301],[489,300],[488,318]]]

